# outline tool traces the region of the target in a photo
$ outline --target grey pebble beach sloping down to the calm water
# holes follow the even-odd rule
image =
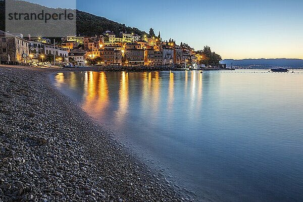
[[[52,85],[69,71],[0,66],[0,201],[192,200]]]

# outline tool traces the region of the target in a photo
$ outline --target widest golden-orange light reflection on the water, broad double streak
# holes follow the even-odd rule
[[[104,115],[104,109],[110,104],[109,88],[105,72],[85,72],[83,109],[98,116]]]

